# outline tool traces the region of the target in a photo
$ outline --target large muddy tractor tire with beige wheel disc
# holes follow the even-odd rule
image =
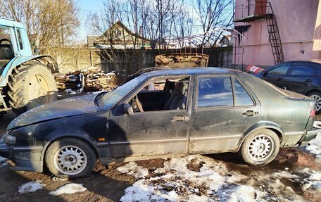
[[[37,61],[13,70],[8,84],[9,103],[17,115],[57,100],[57,87],[49,68]]]

